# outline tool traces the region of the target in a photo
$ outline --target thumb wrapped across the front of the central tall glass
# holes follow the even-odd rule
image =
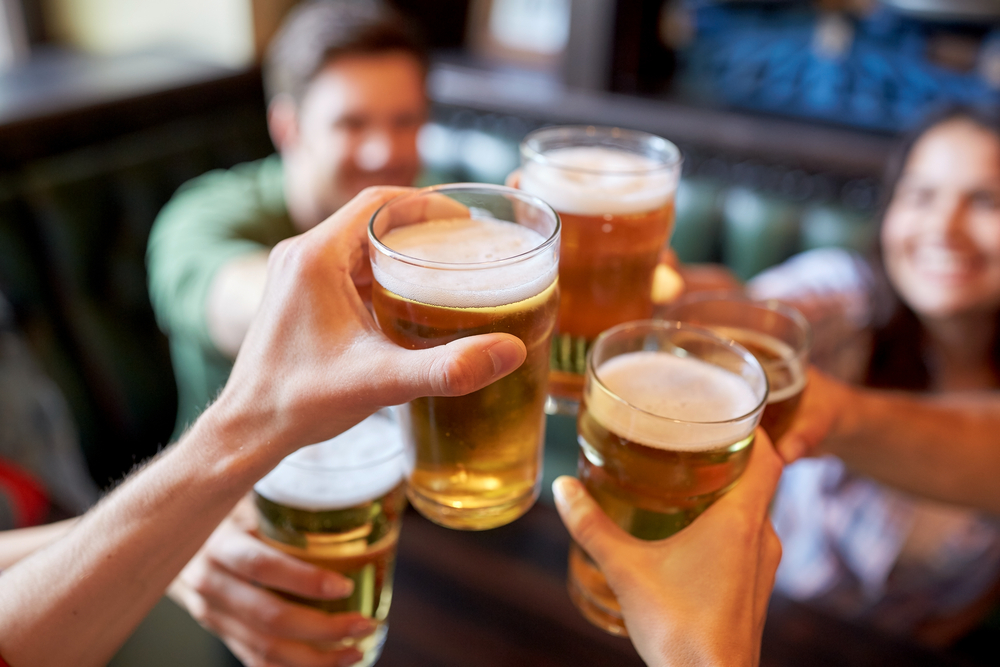
[[[470,394],[516,370],[528,353],[517,336],[494,333],[403,354],[399,368],[413,369],[407,389],[416,397]]]

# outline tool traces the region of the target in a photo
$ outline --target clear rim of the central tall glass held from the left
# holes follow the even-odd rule
[[[447,195],[451,192],[469,192],[475,193],[480,192],[482,194],[493,194],[499,196],[508,196],[519,199],[531,206],[539,208],[550,214],[555,221],[555,225],[552,229],[552,233],[539,245],[535,246],[531,250],[527,250],[517,255],[512,255],[510,257],[504,257],[503,259],[495,259],[489,262],[434,262],[431,260],[420,259],[418,257],[410,257],[401,252],[393,250],[389,246],[382,243],[378,236],[375,234],[375,221],[378,220],[379,214],[384,210],[387,210],[390,206],[397,205],[402,201],[407,199],[416,199],[417,197],[426,197],[431,194],[444,194]],[[430,222],[430,221],[426,221]],[[514,223],[517,224],[517,223]],[[559,242],[559,233],[562,230],[562,221],[559,218],[559,214],[549,206],[543,199],[530,195],[523,190],[518,190],[516,188],[510,188],[506,185],[493,185],[489,183],[446,183],[443,185],[432,185],[426,188],[420,188],[414,190],[413,192],[407,192],[401,194],[397,197],[393,197],[389,201],[385,202],[372,214],[371,220],[368,222],[368,241],[372,244],[379,253],[394,259],[404,264],[410,264],[412,266],[418,266],[427,269],[441,269],[444,271],[475,271],[479,269],[492,269],[500,266],[507,266],[509,264],[518,264],[526,259],[548,250],[553,245]]]

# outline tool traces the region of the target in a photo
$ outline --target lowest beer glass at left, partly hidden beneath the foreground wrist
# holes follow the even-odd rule
[[[259,535],[296,558],[354,582],[351,596],[281,597],[329,613],[356,612],[374,633],[322,648],[353,646],[373,665],[388,632],[392,575],[403,510],[405,458],[399,425],[378,413],[340,436],[287,456],[254,486]]]

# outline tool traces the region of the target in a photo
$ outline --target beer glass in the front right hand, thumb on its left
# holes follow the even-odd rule
[[[677,322],[609,329],[587,356],[579,478],[630,534],[669,537],[743,474],[766,398],[764,369],[732,340]],[[594,625],[627,635],[614,593],[576,542],[568,587]]]

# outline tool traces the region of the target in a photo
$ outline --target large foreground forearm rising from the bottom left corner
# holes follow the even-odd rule
[[[276,463],[254,460],[243,435],[207,415],[63,539],[4,572],[0,654],[14,667],[105,664]]]

